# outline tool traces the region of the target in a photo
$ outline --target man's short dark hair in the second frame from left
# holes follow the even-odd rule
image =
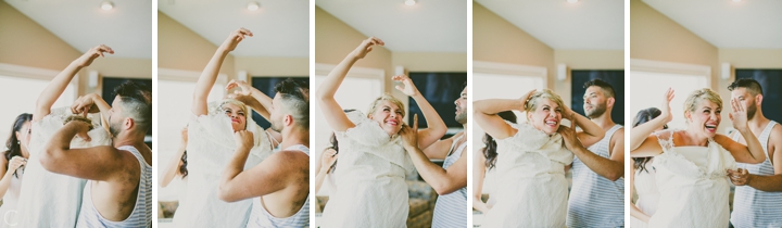
[[[310,84],[292,78],[275,86],[283,105],[291,107],[289,113],[299,126],[310,129]]]

